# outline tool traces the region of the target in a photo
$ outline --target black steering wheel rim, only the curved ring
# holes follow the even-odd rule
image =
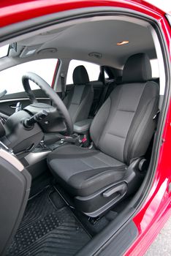
[[[34,83],[39,86],[42,91],[45,92],[47,97],[50,97],[50,99],[53,102],[54,107],[56,108],[56,111],[60,113],[60,116],[64,119],[64,123],[66,124],[66,130],[68,135],[72,135],[73,132],[73,123],[72,123],[72,118],[69,115],[69,112],[64,105],[64,102],[61,100],[60,97],[58,97],[58,94],[56,94],[55,91],[48,85],[48,83],[43,80],[39,75],[35,74],[34,72],[26,72],[22,76],[22,83],[23,83],[23,88],[26,91],[26,94],[28,98],[31,100],[31,103],[37,103],[37,99],[34,96],[33,91],[31,91],[31,87],[29,85],[29,80],[33,81]]]

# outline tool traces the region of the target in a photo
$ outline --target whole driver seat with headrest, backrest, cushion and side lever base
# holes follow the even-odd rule
[[[159,86],[150,79],[148,56],[129,57],[123,84],[115,87],[91,124],[94,148],[66,144],[47,156],[53,176],[89,217],[104,214],[140,187],[140,159],[153,136],[159,104]]]

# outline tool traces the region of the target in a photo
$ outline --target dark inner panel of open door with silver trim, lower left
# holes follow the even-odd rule
[[[31,175],[16,157],[1,148],[0,170],[0,255],[3,256],[23,217]]]

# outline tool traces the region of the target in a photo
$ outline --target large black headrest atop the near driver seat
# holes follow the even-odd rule
[[[127,59],[123,67],[123,83],[142,83],[151,79],[151,62],[145,53],[137,53]]]

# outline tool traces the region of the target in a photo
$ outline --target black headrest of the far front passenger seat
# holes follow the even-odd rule
[[[76,85],[83,85],[89,83],[86,67],[84,67],[83,65],[75,67],[72,78],[73,83]]]

